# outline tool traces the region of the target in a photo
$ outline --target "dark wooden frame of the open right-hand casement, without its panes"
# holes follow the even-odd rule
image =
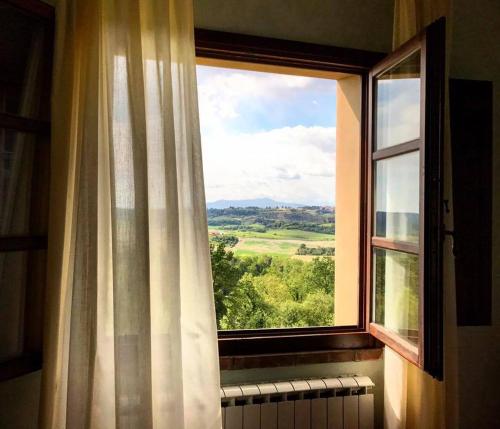
[[[443,285],[442,285],[442,240],[443,240],[443,130],[444,130],[444,49],[445,20],[439,19],[426,30],[406,42],[393,54],[377,64],[370,73],[370,113],[368,147],[370,200],[368,213],[369,245],[366,248],[367,273],[372,278],[372,252],[374,248],[396,250],[419,255],[419,344],[418,347],[383,326],[372,322],[369,330],[376,338],[390,346],[400,355],[423,368],[438,379],[443,375]],[[375,150],[376,86],[378,76],[394,68],[410,55],[420,51],[421,110],[420,138],[409,142]],[[373,235],[374,168],[381,159],[420,152],[420,210],[419,244],[388,240]],[[371,302],[373,278],[367,288],[367,302]]]

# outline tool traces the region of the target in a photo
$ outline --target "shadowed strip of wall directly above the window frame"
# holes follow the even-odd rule
[[[393,0],[194,0],[209,30],[388,52]]]

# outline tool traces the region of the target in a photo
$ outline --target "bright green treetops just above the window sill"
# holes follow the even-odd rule
[[[334,324],[333,258],[236,257],[223,242],[210,254],[219,329]]]

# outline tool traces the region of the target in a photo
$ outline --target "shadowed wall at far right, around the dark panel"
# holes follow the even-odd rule
[[[493,81],[493,325],[458,328],[460,428],[500,427],[500,1],[453,0],[450,74]],[[474,144],[474,142],[470,142]]]

